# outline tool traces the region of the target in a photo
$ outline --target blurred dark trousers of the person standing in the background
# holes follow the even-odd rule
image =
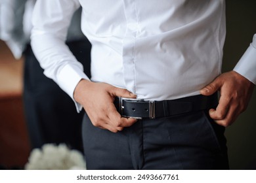
[[[68,46],[90,76],[89,41],[69,42]],[[43,75],[30,46],[24,57],[24,109],[32,148],[40,148],[46,143],[66,143],[82,152],[84,112],[78,114],[74,101],[53,80]]]

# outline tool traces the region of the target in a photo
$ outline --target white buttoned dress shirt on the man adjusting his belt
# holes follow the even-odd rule
[[[79,80],[89,79],[64,44],[79,5],[81,29],[93,45],[94,82],[161,101],[197,95],[221,74],[224,0],[38,0],[33,50],[45,75],[72,98]],[[255,47],[254,42],[236,67],[254,83]]]

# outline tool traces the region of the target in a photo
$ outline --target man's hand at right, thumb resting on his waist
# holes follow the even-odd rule
[[[216,110],[209,110],[209,115],[217,124],[231,125],[238,115],[247,108],[249,99],[253,93],[254,84],[244,76],[230,71],[218,76],[211,84],[205,86],[200,93],[212,95],[219,91],[221,97]]]

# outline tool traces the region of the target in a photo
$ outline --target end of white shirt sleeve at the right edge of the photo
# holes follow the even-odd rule
[[[234,71],[256,84],[256,34],[253,36],[253,42],[234,67]]]

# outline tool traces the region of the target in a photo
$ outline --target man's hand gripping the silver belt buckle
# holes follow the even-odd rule
[[[121,117],[114,105],[116,96],[136,98],[136,95],[128,90],[84,79],[77,84],[74,92],[75,101],[85,108],[93,125],[114,133],[137,122],[134,118]]]

